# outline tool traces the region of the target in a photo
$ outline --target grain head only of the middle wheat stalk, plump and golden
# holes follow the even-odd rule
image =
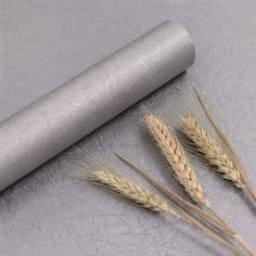
[[[209,207],[209,202],[205,199],[202,185],[191,168],[175,132],[171,131],[161,118],[152,113],[144,114],[144,124],[161,153],[171,167],[176,179],[182,184],[185,192],[196,203]]]

